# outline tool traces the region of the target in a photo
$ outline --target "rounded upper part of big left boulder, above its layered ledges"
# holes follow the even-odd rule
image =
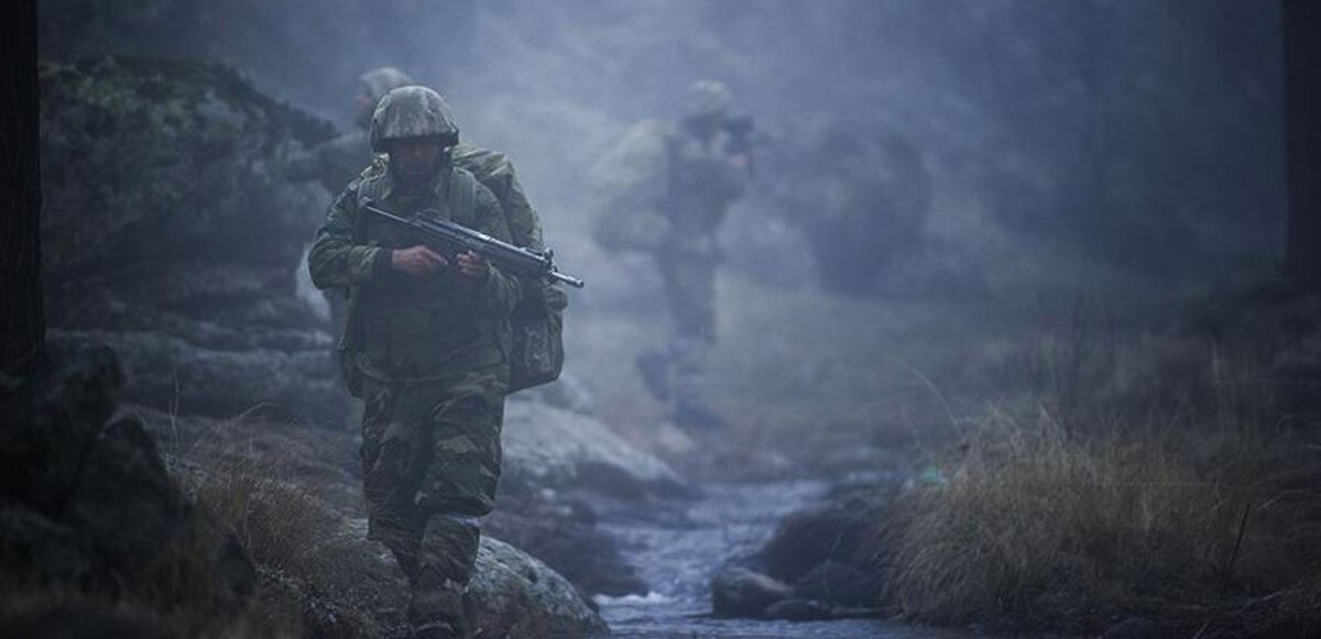
[[[49,284],[197,257],[297,264],[325,211],[276,170],[318,137],[304,114],[221,63],[106,57],[38,74]]]

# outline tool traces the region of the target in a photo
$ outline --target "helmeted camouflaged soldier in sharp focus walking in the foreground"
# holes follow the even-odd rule
[[[410,215],[511,234],[489,189],[453,168],[449,106],[429,88],[387,94],[371,121],[386,153],[330,207],[309,255],[317,286],[350,289],[341,341],[350,388],[365,400],[363,492],[369,536],[408,576],[417,636],[460,636],[478,518],[501,470],[509,316],[524,286],[472,252],[443,255],[410,230],[361,211],[371,199]],[[535,218],[523,236],[540,236]]]

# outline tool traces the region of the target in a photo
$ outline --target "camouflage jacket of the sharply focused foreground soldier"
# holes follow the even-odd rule
[[[370,197],[383,207],[408,215],[436,215],[506,242],[514,240],[505,214],[489,189],[474,184],[470,211],[456,211],[449,185],[437,180],[420,195],[400,191],[379,158],[354,180],[332,205],[308,253],[312,281],[320,288],[350,290],[349,318],[341,349],[365,374],[376,378],[429,378],[458,368],[499,368],[507,375],[509,314],[523,283],[491,267],[481,280],[445,268],[431,280],[394,271],[390,253],[421,243],[412,231],[361,211]],[[433,246],[441,255],[445,247]]]

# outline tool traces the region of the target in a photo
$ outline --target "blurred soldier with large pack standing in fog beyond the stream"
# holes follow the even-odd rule
[[[731,118],[733,95],[715,81],[684,94],[678,125],[643,121],[593,169],[602,215],[593,236],[608,251],[650,252],[670,308],[663,349],[638,355],[647,388],[671,405],[680,426],[724,425],[707,397],[707,354],[716,339],[716,239],[746,186],[746,118]]]

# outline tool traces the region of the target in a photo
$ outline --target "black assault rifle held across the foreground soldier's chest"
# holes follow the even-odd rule
[[[403,224],[421,232],[427,238],[437,239],[458,252],[472,251],[481,255],[505,272],[523,277],[561,281],[573,288],[583,288],[585,285],[583,280],[564,275],[555,268],[553,255],[550,250],[544,253],[539,253],[527,248],[515,247],[509,242],[498,240],[483,232],[468,228],[466,226],[424,215],[427,211],[419,211],[416,215],[404,218],[376,206],[370,199],[362,202],[362,210],[388,219],[396,224]]]

